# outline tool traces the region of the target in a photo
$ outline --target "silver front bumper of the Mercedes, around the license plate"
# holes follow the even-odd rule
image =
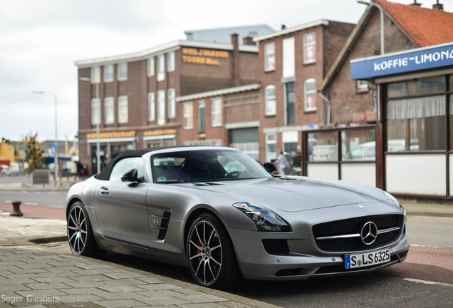
[[[295,238],[293,233],[255,232],[232,229],[228,231],[231,240],[234,242],[239,267],[246,279],[298,280],[308,279],[310,277],[370,272],[402,262],[407,257],[407,251],[410,246],[405,228],[400,240],[397,242],[392,245],[370,250],[390,248],[390,262],[360,269],[345,270],[344,256],[351,252],[321,252],[317,249],[311,235],[308,233]],[[263,240],[269,238],[286,240],[288,242],[289,253],[271,255],[266,252]],[[364,251],[360,253],[364,253]]]

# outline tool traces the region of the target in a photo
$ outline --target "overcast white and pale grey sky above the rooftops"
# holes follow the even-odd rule
[[[413,0],[393,0],[411,4]],[[418,0],[432,7],[436,0]],[[453,11],[453,0],[441,0]],[[78,131],[74,61],[144,51],[185,39],[185,30],[267,24],[275,30],[319,19],[356,24],[355,0],[1,0],[0,138],[55,138]]]

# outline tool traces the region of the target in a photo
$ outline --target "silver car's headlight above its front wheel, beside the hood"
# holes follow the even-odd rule
[[[291,227],[280,216],[260,205],[249,202],[238,202],[233,205],[241,210],[256,225],[258,231],[290,232]]]

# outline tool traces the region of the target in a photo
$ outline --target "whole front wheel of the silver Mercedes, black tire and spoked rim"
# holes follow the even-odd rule
[[[229,289],[241,279],[231,239],[212,214],[199,215],[187,235],[187,260],[194,280],[204,287]]]

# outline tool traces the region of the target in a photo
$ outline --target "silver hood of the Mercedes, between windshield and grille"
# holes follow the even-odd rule
[[[186,184],[187,185],[187,184]],[[323,207],[376,202],[375,194],[360,190],[353,183],[297,179],[231,180],[215,183],[191,183],[195,190],[229,195],[236,202],[252,202],[285,212],[298,212]],[[360,185],[358,185],[360,188]],[[377,190],[377,188],[370,188]]]

